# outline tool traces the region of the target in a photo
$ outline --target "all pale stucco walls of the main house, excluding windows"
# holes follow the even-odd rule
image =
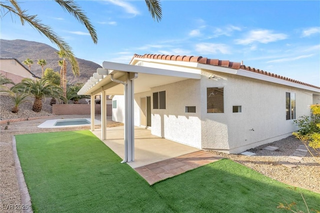
[[[151,134],[201,149],[240,153],[290,136],[297,130],[285,118],[285,93],[295,93],[296,118],[309,115],[319,95],[253,78],[202,70],[200,80],[183,80],[134,94],[134,125],[140,126],[140,97],[151,97]],[[214,78],[208,78],[210,75]],[[207,113],[206,88],[224,88],[224,112]],[[153,109],[152,93],[165,91],[166,109]],[[124,122],[124,97],[114,96],[112,119]],[[186,113],[195,106],[196,113]],[[233,113],[232,106],[241,106]]]

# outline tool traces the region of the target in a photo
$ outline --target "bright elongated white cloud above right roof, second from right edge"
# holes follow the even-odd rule
[[[260,30],[251,30],[246,38],[235,39],[236,44],[250,44],[253,42],[260,43],[269,43],[277,40],[286,39],[287,35],[283,33],[272,33],[271,30],[260,29]]]

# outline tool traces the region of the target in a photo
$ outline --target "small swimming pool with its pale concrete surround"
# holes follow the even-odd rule
[[[100,121],[94,120],[94,125],[101,124]],[[73,119],[54,119],[47,120],[37,126],[38,128],[62,128],[62,127],[77,127],[90,126],[91,120],[89,118],[73,118]]]

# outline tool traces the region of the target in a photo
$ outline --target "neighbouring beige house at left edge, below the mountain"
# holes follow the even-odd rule
[[[0,57],[0,73],[11,79],[13,83],[19,83],[23,78],[39,78],[16,58],[11,57]]]

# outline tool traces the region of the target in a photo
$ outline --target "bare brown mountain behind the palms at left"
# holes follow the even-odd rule
[[[58,61],[61,60],[56,54],[58,50],[53,47],[35,41],[27,40],[4,40],[0,39],[0,56],[13,57],[18,59],[22,64],[26,58],[33,60],[30,71],[36,76],[41,77],[41,66],[37,64],[38,59],[46,61],[45,68],[52,68],[54,71],[60,72]],[[73,76],[70,63],[67,63],[67,80],[68,83],[85,83],[96,69],[101,67],[92,61],[76,58],[80,67],[80,75]],[[26,66],[27,67],[27,66]]]

